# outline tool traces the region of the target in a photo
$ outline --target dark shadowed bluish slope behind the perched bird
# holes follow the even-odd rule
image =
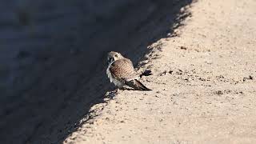
[[[62,143],[113,89],[106,52],[137,64],[190,2],[0,2],[0,143]]]

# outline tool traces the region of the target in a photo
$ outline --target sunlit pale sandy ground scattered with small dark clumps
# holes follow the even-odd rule
[[[148,48],[152,91],[91,107],[64,143],[256,143],[256,1],[198,0]],[[90,117],[89,116],[89,117]]]

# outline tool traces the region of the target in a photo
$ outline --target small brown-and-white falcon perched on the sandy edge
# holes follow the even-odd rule
[[[133,63],[128,58],[124,58],[122,54],[111,51],[107,56],[109,66],[106,74],[118,88],[122,86],[130,86],[134,90],[150,90],[138,81],[138,74],[134,70]]]

